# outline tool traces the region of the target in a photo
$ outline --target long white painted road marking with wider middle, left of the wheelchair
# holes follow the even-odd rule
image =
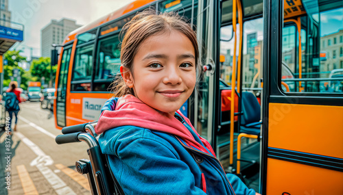
[[[60,177],[58,177],[51,169],[46,167],[47,165],[54,163],[54,160],[52,160],[50,156],[45,155],[45,153],[36,144],[34,144],[34,142],[26,138],[22,133],[16,132],[14,135],[18,136],[21,141],[23,141],[34,153],[36,153],[36,155],[38,155],[38,157],[31,162],[31,166],[36,165],[36,168],[38,168],[38,170],[43,174],[45,179],[47,179],[58,195],[75,194],[75,192],[73,192],[73,190],[71,190],[71,188],[67,186],[62,179],[60,179]]]

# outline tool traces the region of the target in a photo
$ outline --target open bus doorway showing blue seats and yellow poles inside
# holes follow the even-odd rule
[[[263,1],[222,1],[220,9],[216,79],[222,106],[215,148],[226,171],[244,176],[259,192]]]

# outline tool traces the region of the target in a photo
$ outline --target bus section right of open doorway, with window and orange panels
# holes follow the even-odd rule
[[[265,8],[262,194],[343,194],[343,1]]]

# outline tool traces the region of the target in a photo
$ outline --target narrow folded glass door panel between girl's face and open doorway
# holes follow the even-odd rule
[[[218,42],[220,17],[217,9],[217,1],[198,1],[198,16],[196,23],[197,38],[204,72],[199,72],[198,87],[194,96],[193,125],[198,133],[208,140],[213,148],[216,145],[216,132],[218,124],[215,120],[218,113],[215,107],[220,106],[220,96],[217,94],[219,80],[217,78],[217,66],[219,62]],[[217,55],[218,54],[218,55]]]

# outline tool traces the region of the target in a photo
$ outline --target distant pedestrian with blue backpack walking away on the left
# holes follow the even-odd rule
[[[12,118],[13,114],[16,117],[13,131],[16,131],[16,123],[18,122],[18,112],[20,110],[19,103],[21,103],[21,90],[18,89],[18,83],[16,81],[10,82],[10,88],[6,90],[5,96],[5,109],[10,115],[10,128],[12,131]]]

